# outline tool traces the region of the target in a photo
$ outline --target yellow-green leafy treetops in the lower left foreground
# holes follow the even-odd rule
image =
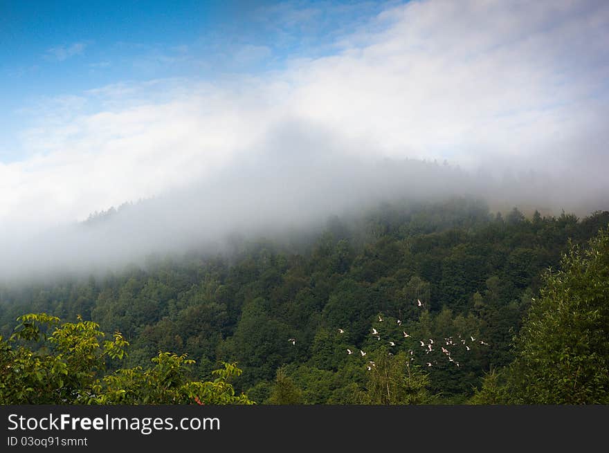
[[[0,402],[2,404],[251,404],[235,395],[228,382],[241,370],[234,363],[213,371],[215,380],[191,380],[186,355],[161,352],[154,367],[119,369],[105,374],[107,361],[125,356],[128,342],[120,333],[104,340],[91,321],[61,324],[46,313],[23,315],[9,341],[0,337]],[[54,329],[46,334],[44,327]],[[33,352],[15,342],[43,342]],[[49,343],[46,346],[46,343]]]

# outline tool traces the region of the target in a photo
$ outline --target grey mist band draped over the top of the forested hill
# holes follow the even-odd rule
[[[291,133],[275,150],[243,158],[196,184],[125,203],[32,234],[0,239],[4,281],[86,275],[141,265],[149,255],[229,253],[230,243],[266,238],[289,243],[316,234],[330,216],[365,215],[380,203],[484,200],[492,211],[562,210],[587,215],[609,207],[607,192],[572,187],[567,178],[522,172],[496,176],[448,163],[347,155],[321,139]]]

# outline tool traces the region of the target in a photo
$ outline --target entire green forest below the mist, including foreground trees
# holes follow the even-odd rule
[[[5,284],[0,403],[608,404],[608,225],[404,201]]]

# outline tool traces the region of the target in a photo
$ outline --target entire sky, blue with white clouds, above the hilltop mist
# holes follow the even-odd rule
[[[0,1],[0,244],[167,192],[221,210],[275,163],[300,194],[446,159],[607,208],[608,81],[606,1]]]

